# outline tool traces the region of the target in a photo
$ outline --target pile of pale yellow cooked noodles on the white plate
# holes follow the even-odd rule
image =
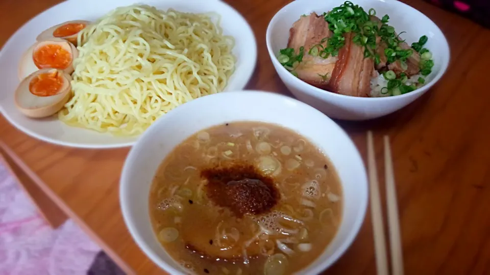
[[[78,36],[67,124],[116,135],[143,132],[189,100],[223,91],[234,40],[209,15],[118,8]]]

